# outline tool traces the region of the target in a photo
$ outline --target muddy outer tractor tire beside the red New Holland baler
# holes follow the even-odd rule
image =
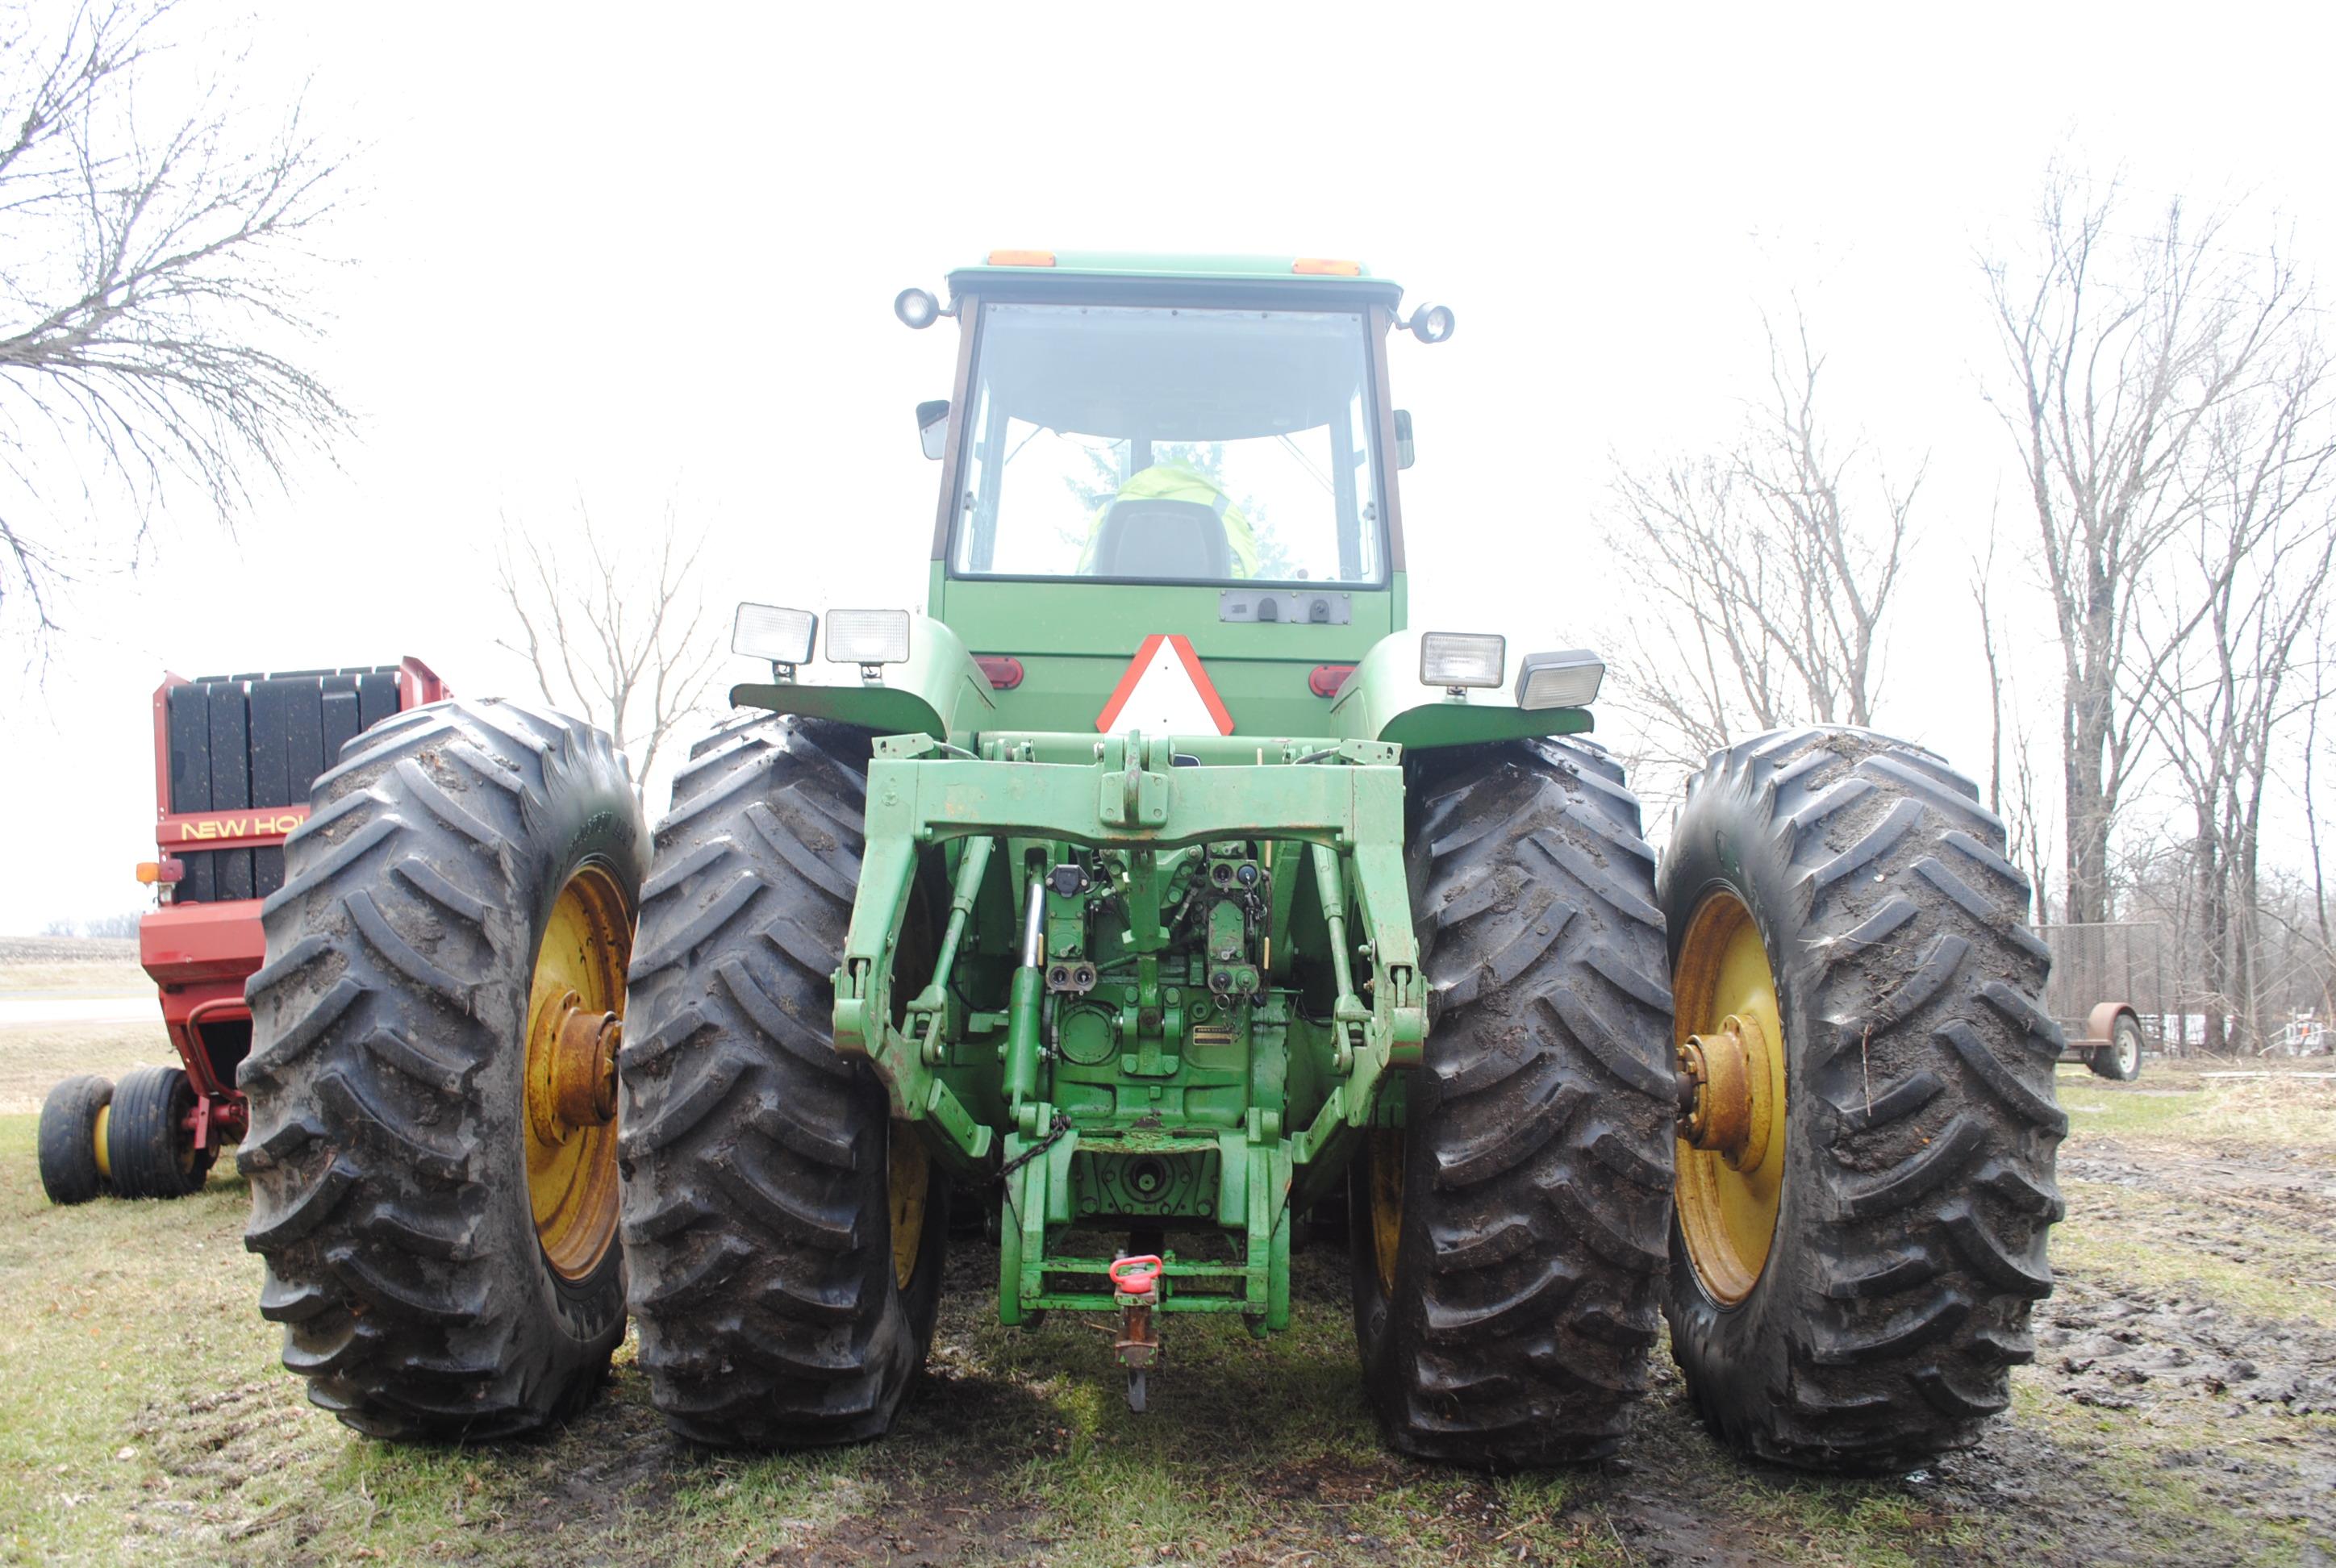
[[[434,703],[350,741],[313,804],[245,986],[259,1311],[360,1432],[563,1421],[624,1339],[614,1129],[540,1154],[530,1040],[563,944],[624,1005],[649,858],[626,766],[575,720]]]

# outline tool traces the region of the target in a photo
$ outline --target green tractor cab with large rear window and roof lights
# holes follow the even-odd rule
[[[962,329],[955,397],[920,409],[930,615],[1011,680],[997,722],[1096,727],[1159,638],[1240,729],[1320,729],[1404,624],[1402,290],[1355,262],[993,250],[948,297],[897,306]]]

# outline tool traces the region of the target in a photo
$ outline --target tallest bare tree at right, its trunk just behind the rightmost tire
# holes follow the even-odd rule
[[[2236,252],[2222,217],[2191,222],[2172,201],[2128,238],[2123,213],[2114,182],[2053,168],[2037,248],[1981,257],[2007,367],[1993,402],[2025,470],[2063,657],[2070,921],[2109,918],[2109,834],[2142,764],[2147,713],[2119,699],[2135,598],[2194,512],[2215,414],[2306,320],[2296,271]]]

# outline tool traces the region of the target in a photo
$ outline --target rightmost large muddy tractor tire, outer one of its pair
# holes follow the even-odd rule
[[[1691,780],[1663,860],[1673,960],[1691,923],[1750,911],[1785,1045],[1773,1239],[1747,1290],[1698,1215],[1680,1145],[1670,1341],[1722,1439],[1880,1472],[1969,1446],[2032,1358],[2063,1206],[2060,1031],[2028,883],[1974,788],[1866,731],[1778,731]],[[1703,1007],[1675,967],[1682,1038]],[[1703,1021],[1710,1026],[1712,1021]],[[1710,1278],[1708,1278],[1710,1274]]]

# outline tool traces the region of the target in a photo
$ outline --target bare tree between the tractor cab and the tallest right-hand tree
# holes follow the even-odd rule
[[[1731,449],[1617,463],[1617,551],[1654,598],[1617,689],[1656,762],[1696,766],[1778,724],[1873,722],[1920,472],[1899,488],[1862,446],[1834,449],[1822,372],[1796,311],[1789,334],[1768,325],[1768,388]]]

